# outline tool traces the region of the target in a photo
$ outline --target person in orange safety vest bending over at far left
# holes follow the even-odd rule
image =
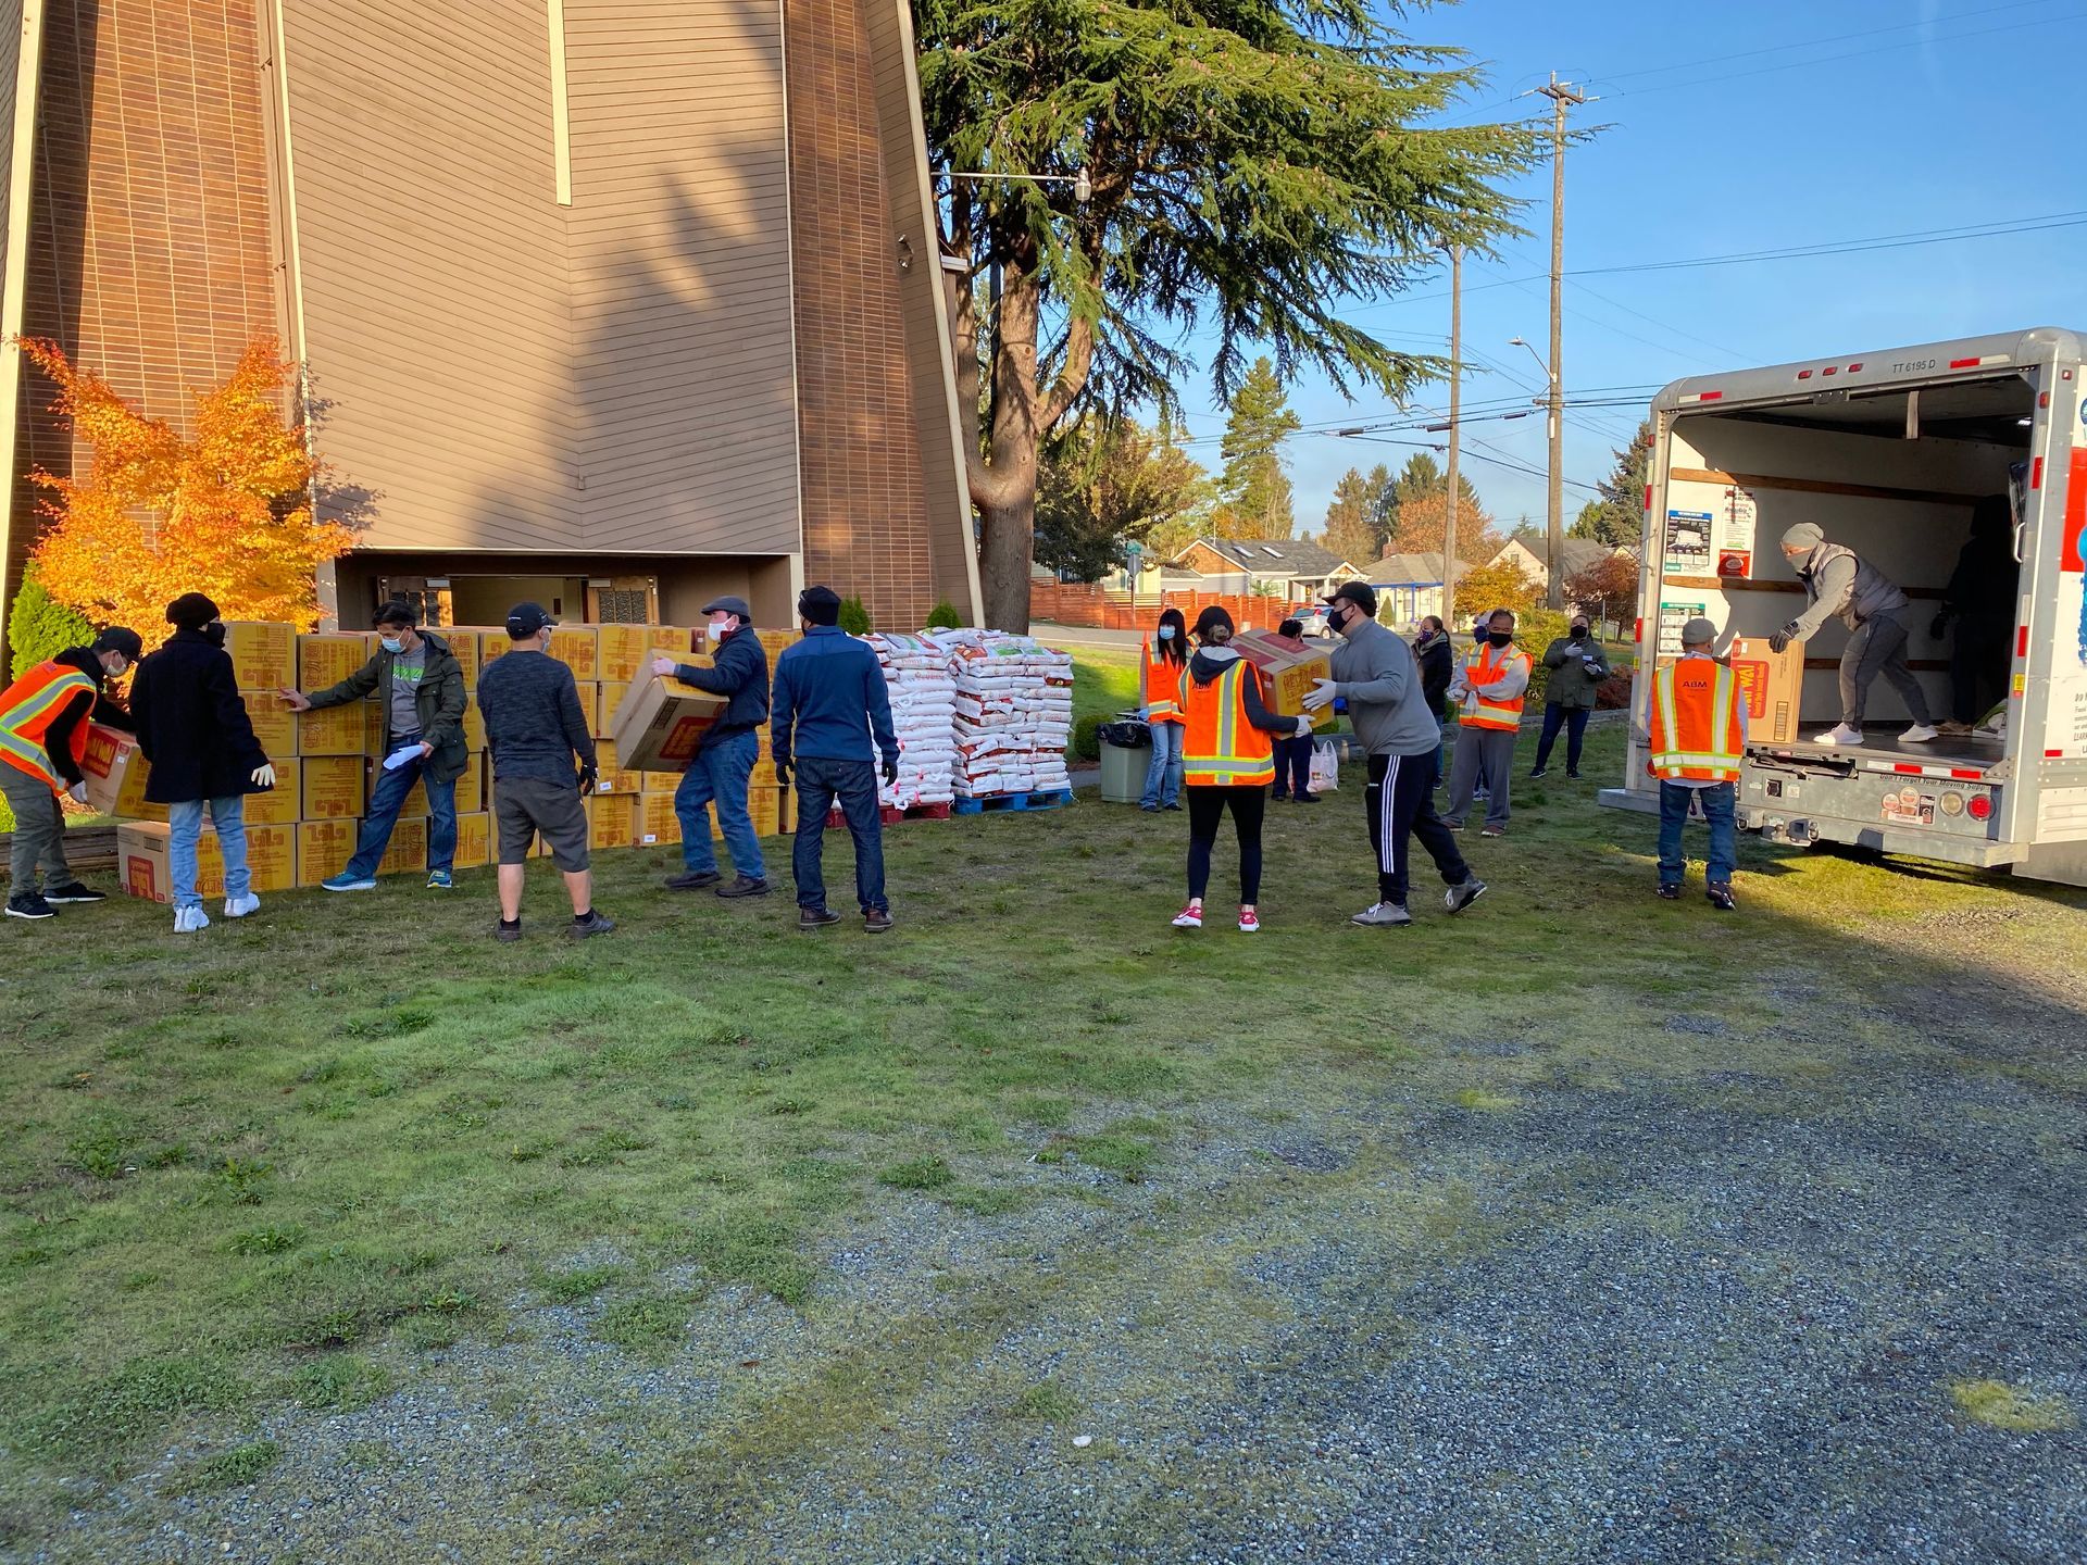
[[[0,793],[15,812],[8,918],[50,918],[52,904],[104,901],[79,885],[65,862],[61,793],[86,803],[88,726],[104,722],[129,732],[129,714],[102,695],[102,684],[138,661],[136,630],[109,626],[92,647],[67,647],[0,691]],[[38,891],[35,872],[44,870]]]

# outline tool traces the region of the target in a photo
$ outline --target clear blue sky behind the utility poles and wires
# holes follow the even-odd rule
[[[1507,100],[1553,69],[1601,98],[1574,111],[1574,123],[1607,129],[1565,159],[1567,273],[2064,215],[2043,232],[1567,280],[1567,399],[1749,363],[2087,328],[2087,117],[2077,111],[2087,0],[1463,0],[1409,17],[1405,31],[1486,63],[1486,86],[1450,119],[1549,111],[1544,98]],[[1509,280],[1549,269],[1549,165],[1513,194],[1530,202],[1530,236],[1496,263],[1465,265],[1465,357],[1496,365],[1473,367],[1467,405],[1542,390],[1536,361],[1509,338],[1549,346],[1549,284]],[[1394,346],[1444,353],[1446,267],[1440,282],[1357,307],[1352,319]],[[1444,394],[1430,386],[1417,405]],[[1396,415],[1382,394],[1348,403],[1317,378],[1290,399],[1306,428]],[[1190,436],[1206,438],[1192,449],[1215,469],[1223,411],[1208,382],[1183,401]],[[1640,413],[1567,415],[1567,524],[1588,499],[1574,484],[1609,467]],[[1467,472],[1503,526],[1524,513],[1542,522],[1542,417],[1467,424],[1465,436]],[[1296,436],[1298,532],[1323,526],[1350,465],[1396,469],[1409,455]]]

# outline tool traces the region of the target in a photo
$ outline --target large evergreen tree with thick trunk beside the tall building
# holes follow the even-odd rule
[[[1171,405],[1196,369],[1190,330],[1227,399],[1250,344],[1342,390],[1400,394],[1446,369],[1352,309],[1430,275],[1444,244],[1488,250],[1536,140],[1442,123],[1480,75],[1409,42],[1411,8],[916,0],[989,624],[1029,618],[1044,438],[1085,403]]]

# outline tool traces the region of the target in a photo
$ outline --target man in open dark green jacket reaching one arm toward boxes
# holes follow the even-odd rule
[[[457,778],[472,760],[463,743],[463,666],[442,636],[419,628],[411,603],[386,603],[376,626],[376,655],[340,684],[311,695],[280,691],[292,712],[338,707],[382,691],[384,770],[369,793],[355,858],[319,885],[328,891],[374,891],[399,810],[413,785],[426,782],[428,889],[449,891],[457,862]]]

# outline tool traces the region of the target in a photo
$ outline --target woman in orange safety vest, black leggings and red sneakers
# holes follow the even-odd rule
[[[1275,780],[1271,735],[1311,732],[1311,718],[1277,718],[1261,699],[1261,674],[1227,643],[1231,616],[1215,603],[1196,616],[1196,655],[1181,674],[1181,770],[1188,785],[1188,908],[1175,929],[1202,929],[1217,826],[1231,810],[1240,835],[1240,933],[1261,929],[1261,820]]]

